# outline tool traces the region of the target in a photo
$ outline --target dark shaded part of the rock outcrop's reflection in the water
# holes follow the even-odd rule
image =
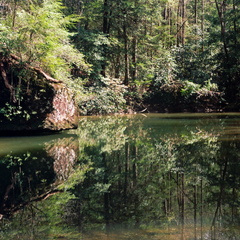
[[[22,202],[41,194],[53,179],[51,163],[52,159],[47,158],[44,151],[3,157],[0,161],[0,203],[5,209],[0,209],[1,212],[11,212]]]

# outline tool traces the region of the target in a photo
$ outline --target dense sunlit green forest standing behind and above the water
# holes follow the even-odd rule
[[[0,112],[26,115],[27,69],[67,84],[81,115],[238,111],[239,7],[237,0],[1,0],[8,102]]]

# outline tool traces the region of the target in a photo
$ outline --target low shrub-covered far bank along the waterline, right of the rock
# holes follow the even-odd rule
[[[78,100],[80,115],[239,111],[239,104],[229,104],[224,93],[214,86],[187,90],[183,83],[178,83],[142,90],[137,86],[126,87],[115,80],[111,85],[97,87],[96,90],[94,87],[86,88],[85,91],[86,97]]]

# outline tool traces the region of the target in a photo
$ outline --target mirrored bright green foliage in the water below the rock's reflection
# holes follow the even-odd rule
[[[70,190],[83,182],[84,174],[89,169],[89,166],[81,165],[57,187],[60,191],[50,192],[44,201],[29,201],[24,208],[19,208],[11,220],[0,221],[3,231],[0,239],[49,239],[49,236],[51,239],[79,239],[81,234],[70,225],[81,219],[81,212],[76,213],[80,211],[81,203]]]

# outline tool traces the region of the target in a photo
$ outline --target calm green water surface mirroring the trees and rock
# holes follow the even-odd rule
[[[0,138],[0,239],[240,239],[240,114],[82,117]]]

